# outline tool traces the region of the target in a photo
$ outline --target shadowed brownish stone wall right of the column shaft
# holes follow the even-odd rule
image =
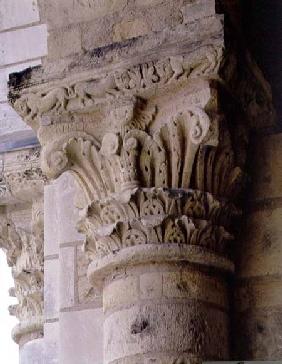
[[[236,359],[282,357],[282,135],[257,136],[238,247]]]

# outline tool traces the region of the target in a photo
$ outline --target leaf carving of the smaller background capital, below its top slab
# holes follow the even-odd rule
[[[10,294],[18,304],[9,311],[20,323],[13,330],[19,342],[24,335],[43,335],[43,211],[42,202],[34,203],[31,232],[17,228],[12,220],[1,217],[1,248],[7,254],[15,286]]]

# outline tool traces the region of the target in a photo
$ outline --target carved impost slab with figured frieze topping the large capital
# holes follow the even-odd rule
[[[10,102],[37,130],[76,113],[112,109],[124,99],[148,99],[171,87],[187,87],[195,79],[214,79],[241,104],[252,127],[272,125],[270,87],[250,54],[239,49],[235,38],[231,43],[230,49],[225,47],[223,17],[210,16],[189,26],[94,49],[71,60],[72,71],[63,77],[45,75],[40,67],[11,75]]]

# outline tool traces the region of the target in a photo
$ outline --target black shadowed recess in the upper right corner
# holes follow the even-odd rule
[[[241,0],[244,9],[244,33],[258,65],[273,91],[282,131],[282,0]]]

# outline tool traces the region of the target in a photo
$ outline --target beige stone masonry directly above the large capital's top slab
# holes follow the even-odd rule
[[[213,3],[202,1],[203,11],[213,11]],[[187,19],[190,5],[188,0],[41,0],[48,59],[63,62],[71,54],[175,27]]]

